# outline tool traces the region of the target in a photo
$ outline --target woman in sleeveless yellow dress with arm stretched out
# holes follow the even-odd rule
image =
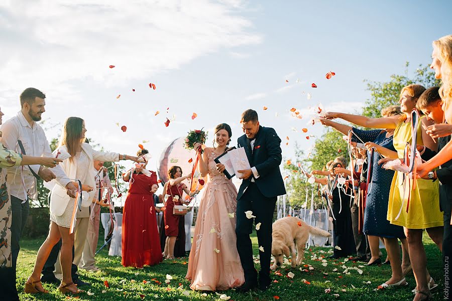
[[[403,158],[406,143],[411,142],[411,111],[415,109],[416,102],[424,91],[425,88],[421,85],[408,85],[402,89],[399,100],[400,110],[403,113],[402,118],[400,116],[368,118],[337,112],[327,112],[325,117],[331,119],[342,118],[365,127],[394,128],[393,143],[397,150],[397,155],[394,153],[393,158],[382,159],[382,163]],[[436,151],[435,140],[425,130],[431,124],[425,116],[420,118],[417,128],[417,144]],[[403,173],[396,172],[389,193],[387,219],[391,224],[404,227],[410,261],[417,284],[414,300],[422,300],[430,295],[429,289],[437,287],[437,284],[434,284],[433,278],[430,277],[427,271],[425,249],[422,243],[422,229],[427,230],[430,238],[442,250],[443,218],[439,210],[439,184],[438,181],[432,182],[430,180],[417,179],[415,189],[411,190],[409,194],[408,187],[409,185],[403,185]],[[408,195],[410,200],[407,212]],[[394,283],[388,284],[395,284],[394,286],[406,285],[406,281],[393,280]]]

